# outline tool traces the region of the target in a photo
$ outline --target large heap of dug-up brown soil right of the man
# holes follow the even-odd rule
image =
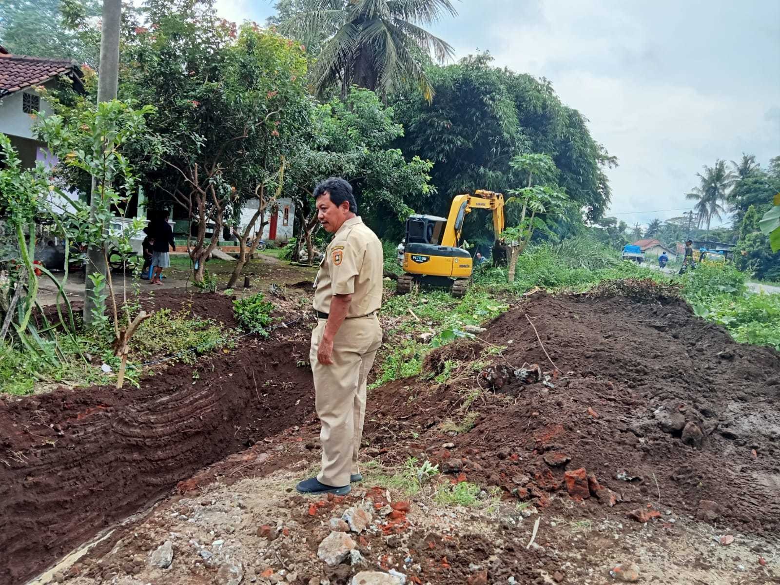
[[[619,513],[652,505],[757,534],[780,529],[775,350],[733,342],[671,297],[537,295],[480,342],[491,363],[482,374],[470,360],[434,392],[407,379],[369,401],[367,440],[388,463],[424,456],[455,480],[542,506],[568,489]],[[491,356],[497,346],[507,349]],[[426,364],[438,373],[474,351],[447,346]],[[567,485],[578,469],[600,485],[589,490],[584,477],[583,489],[573,474]]]

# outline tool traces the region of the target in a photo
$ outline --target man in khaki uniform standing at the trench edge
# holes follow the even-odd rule
[[[314,283],[317,327],[309,360],[322,431],[322,469],[297,485],[304,493],[348,494],[363,479],[357,453],[366,413],[366,379],[382,342],[382,245],[357,215],[352,187],[327,179],[314,190],[317,218],[335,234]]]

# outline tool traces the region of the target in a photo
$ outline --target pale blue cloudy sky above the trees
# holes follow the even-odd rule
[[[551,80],[619,159],[608,215],[647,225],[690,209],[696,173],[718,158],[780,155],[778,0],[462,0],[428,27],[455,58]],[[270,0],[218,0],[263,22]],[[658,211],[674,210],[674,211]],[[724,219],[724,222],[727,220]],[[718,224],[713,222],[713,227]]]

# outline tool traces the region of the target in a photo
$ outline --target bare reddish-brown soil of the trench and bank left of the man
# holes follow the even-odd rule
[[[190,303],[192,300],[192,303]],[[158,293],[156,308],[235,326],[230,299]],[[144,303],[146,304],[146,302]],[[244,338],[176,363],[140,388],[60,389],[0,399],[0,583],[21,583],[179,480],[313,410],[307,328]]]

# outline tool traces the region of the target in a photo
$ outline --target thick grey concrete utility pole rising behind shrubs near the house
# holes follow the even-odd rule
[[[116,87],[119,81],[119,21],[122,19],[122,0],[103,0],[103,23],[101,26],[100,40],[100,67],[97,77],[97,102],[112,101],[116,98]],[[90,193],[90,219],[95,221],[95,212],[100,195],[97,193],[97,183],[92,179],[92,192]],[[87,250],[87,276],[84,282],[84,323],[92,322],[93,309],[97,307],[92,298],[94,289],[89,275],[100,272],[105,275],[107,267],[103,250],[98,246],[89,246]]]

